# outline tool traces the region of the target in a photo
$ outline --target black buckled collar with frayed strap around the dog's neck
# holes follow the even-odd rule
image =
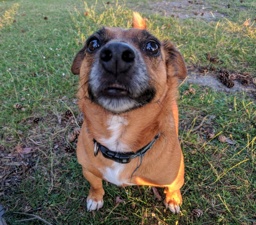
[[[98,154],[98,149],[101,150],[102,155],[107,158],[111,159],[117,163],[129,163],[131,159],[138,157],[139,155],[143,157],[146,152],[153,146],[155,141],[159,138],[160,133],[157,134],[154,139],[148,143],[146,146],[143,148],[139,149],[137,152],[128,152],[128,153],[120,153],[120,152],[113,152],[106,148],[105,146],[101,145],[98,143],[95,139],[93,139],[94,142],[94,156],[96,157]]]

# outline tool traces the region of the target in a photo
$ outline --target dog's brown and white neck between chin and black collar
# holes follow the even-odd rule
[[[112,114],[89,100],[79,106],[91,139],[114,152],[136,152],[158,133],[175,133],[171,111],[175,99],[170,96],[166,90],[158,101],[123,114]]]

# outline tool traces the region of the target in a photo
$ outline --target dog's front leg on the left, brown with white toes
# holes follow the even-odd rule
[[[103,195],[105,194],[102,187],[102,180],[86,170],[86,168],[83,167],[82,170],[85,179],[91,184],[89,195],[86,200],[87,211],[91,212],[92,210],[98,210],[103,207]]]

